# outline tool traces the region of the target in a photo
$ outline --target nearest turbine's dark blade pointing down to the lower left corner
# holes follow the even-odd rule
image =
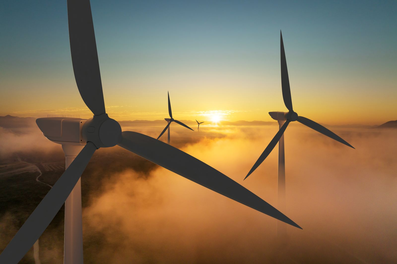
[[[31,249],[66,201],[95,150],[96,146],[87,142],[1,253],[0,263],[18,263]]]

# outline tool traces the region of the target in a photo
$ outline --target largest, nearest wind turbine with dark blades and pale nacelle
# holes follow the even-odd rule
[[[77,88],[94,116],[88,120],[38,119],[37,125],[50,141],[62,144],[64,150],[69,146],[79,146],[79,148],[83,146],[83,148],[1,253],[0,263],[16,264],[21,260],[68,197],[73,192],[80,192],[75,186],[94,152],[98,148],[116,145],[214,192],[300,228],[272,205],[193,156],[141,133],[121,132],[119,123],[109,118],[105,111],[90,2],[89,0],[67,0],[67,11],[71,57]],[[78,203],[81,205],[81,200],[76,204]],[[78,209],[73,213],[77,213],[75,218],[81,221],[81,208]],[[78,233],[80,230],[72,228],[66,232]],[[75,240],[72,238],[72,241]],[[80,244],[79,247],[79,252],[76,254],[65,252],[71,256],[64,259],[66,264],[83,263],[83,250]]]

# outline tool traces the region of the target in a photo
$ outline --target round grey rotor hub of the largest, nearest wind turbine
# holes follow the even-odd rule
[[[120,124],[108,114],[94,116],[83,125],[83,138],[93,142],[97,148],[108,148],[121,142]]]

